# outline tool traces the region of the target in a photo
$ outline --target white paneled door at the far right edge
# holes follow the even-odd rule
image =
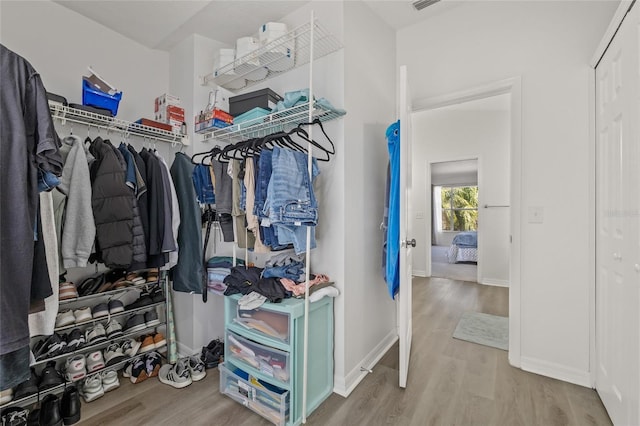
[[[596,68],[596,389],[640,424],[640,8]]]

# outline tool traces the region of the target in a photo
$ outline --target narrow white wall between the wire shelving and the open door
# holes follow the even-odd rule
[[[396,119],[395,32],[360,2],[345,2],[344,13],[345,361],[344,381],[336,381],[341,394],[362,379],[360,367],[373,367],[397,338],[396,305],[381,272],[380,230],[389,159],[385,131]]]

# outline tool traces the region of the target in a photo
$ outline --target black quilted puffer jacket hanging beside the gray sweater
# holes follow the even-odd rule
[[[109,268],[128,268],[133,260],[133,193],[126,168],[110,144],[97,137],[89,148],[91,205],[96,223],[96,257]]]

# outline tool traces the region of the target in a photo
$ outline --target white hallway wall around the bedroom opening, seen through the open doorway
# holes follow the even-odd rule
[[[478,159],[478,205],[509,205],[508,111],[458,111],[440,108],[416,112],[413,124],[414,233],[420,237],[414,271],[429,271],[432,210],[429,163]],[[455,182],[464,182],[462,180]],[[424,212],[418,219],[418,212]],[[439,245],[449,245],[455,233],[436,232]],[[478,282],[509,282],[509,209],[478,209]]]

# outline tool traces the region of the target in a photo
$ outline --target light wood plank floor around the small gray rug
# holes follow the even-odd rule
[[[331,395],[309,425],[610,425],[595,391],[509,366],[507,352],[453,339],[465,311],[508,315],[508,290],[414,279],[407,389],[392,347],[349,398]],[[269,425],[218,392],[217,370],[185,389],[157,379],[82,406],[82,425]]]

